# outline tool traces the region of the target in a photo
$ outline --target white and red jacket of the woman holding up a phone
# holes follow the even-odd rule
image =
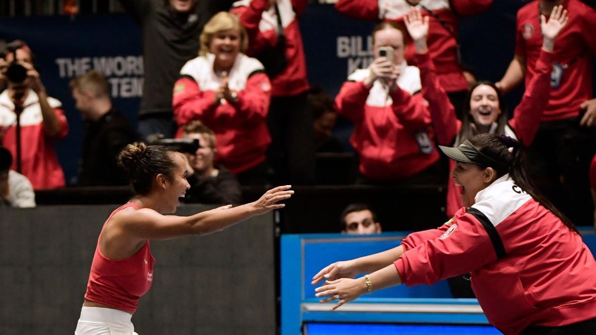
[[[369,179],[384,181],[421,172],[439,159],[433,142],[429,110],[414,66],[401,64],[398,88],[389,93],[378,80],[364,85],[369,70],[356,70],[336,97],[340,115],[355,125],[350,143],[360,157],[359,170]]]

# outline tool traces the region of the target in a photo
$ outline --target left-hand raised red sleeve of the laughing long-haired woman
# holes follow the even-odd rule
[[[440,145],[452,145],[461,129],[461,121],[455,116],[455,108],[437,79],[429,53],[416,54],[415,59],[420,69],[422,95],[429,102],[434,135]]]

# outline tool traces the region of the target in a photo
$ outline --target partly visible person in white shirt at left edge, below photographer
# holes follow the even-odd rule
[[[0,147],[0,207],[15,208],[35,207],[33,186],[26,176],[10,169],[13,155]]]

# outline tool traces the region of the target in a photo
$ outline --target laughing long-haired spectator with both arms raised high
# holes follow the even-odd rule
[[[558,8],[558,9],[557,9]],[[466,145],[467,139],[478,134],[491,133],[506,135],[518,139],[523,145],[529,145],[538,129],[542,111],[547,106],[550,91],[550,71],[552,68],[552,50],[554,40],[563,26],[567,23],[565,13],[561,7],[553,10],[550,20],[542,23],[544,42],[538,61],[536,75],[527,85],[521,103],[513,112],[513,119],[508,120],[505,103],[501,91],[491,82],[477,82],[469,90],[464,106],[465,113],[462,121],[455,116],[455,109],[449,103],[449,98],[436,77],[434,65],[430,61],[430,53],[426,46],[429,32],[429,18],[422,17],[420,10],[412,10],[406,17],[409,35],[416,45],[416,57],[420,64],[422,78],[422,92],[429,103],[437,141],[441,145],[454,147]],[[450,173],[455,168],[455,162],[450,162]],[[455,185],[453,178],[449,178],[447,191],[446,213],[451,218],[462,207],[462,200],[474,203],[471,194]]]

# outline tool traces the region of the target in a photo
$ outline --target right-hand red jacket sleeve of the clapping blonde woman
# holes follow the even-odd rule
[[[256,73],[249,77],[246,89],[238,92],[236,108],[245,115],[248,122],[260,122],[265,119],[271,101],[271,83],[265,73]]]

